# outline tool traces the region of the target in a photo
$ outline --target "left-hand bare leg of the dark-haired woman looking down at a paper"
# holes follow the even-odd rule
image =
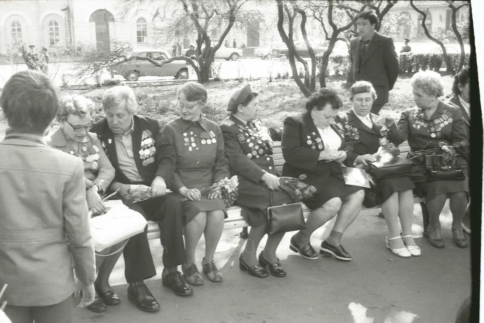
[[[294,241],[299,246],[305,246],[309,243],[311,234],[318,228],[322,227],[326,222],[331,220],[336,213],[338,213],[341,208],[341,199],[333,198],[324,203],[321,207],[316,210],[312,210],[306,221],[306,229],[296,233]]]

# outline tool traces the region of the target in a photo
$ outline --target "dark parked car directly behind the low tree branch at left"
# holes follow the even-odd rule
[[[133,50],[133,54],[136,56],[148,56],[154,61],[163,61],[171,58],[170,54],[163,49],[141,48]],[[136,81],[142,76],[172,76],[179,79],[187,79],[190,75],[189,69],[191,69],[191,66],[185,61],[173,61],[158,67],[149,61],[134,59],[114,66],[113,72],[121,75],[128,81]]]

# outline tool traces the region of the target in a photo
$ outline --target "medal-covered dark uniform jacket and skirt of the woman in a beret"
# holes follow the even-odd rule
[[[258,118],[247,124],[233,114],[220,124],[220,129],[224,134],[230,174],[239,179],[239,197],[235,204],[242,208],[244,219],[252,227],[258,227],[267,222],[271,195],[272,205],[294,202],[283,191],[271,191],[261,180],[265,172],[278,176],[272,157],[272,140],[280,139],[280,134],[264,127]],[[299,200],[295,194],[291,196]]]

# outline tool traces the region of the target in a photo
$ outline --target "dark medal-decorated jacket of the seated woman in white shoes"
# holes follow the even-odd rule
[[[338,120],[341,128],[345,132],[345,138],[353,140],[353,150],[348,154],[349,167],[353,167],[356,157],[364,154],[375,154],[380,147],[379,139],[386,136],[386,131],[382,131],[382,126],[376,123],[379,116],[370,112],[373,121],[371,128],[367,127],[355,114],[353,109],[349,109]]]

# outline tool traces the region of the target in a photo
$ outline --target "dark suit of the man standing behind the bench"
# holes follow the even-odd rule
[[[360,43],[361,37],[350,42],[350,77],[353,81],[371,82],[378,95],[374,104],[385,104],[388,102],[388,91],[393,89],[399,72],[393,39],[375,32],[364,57],[360,55]]]

